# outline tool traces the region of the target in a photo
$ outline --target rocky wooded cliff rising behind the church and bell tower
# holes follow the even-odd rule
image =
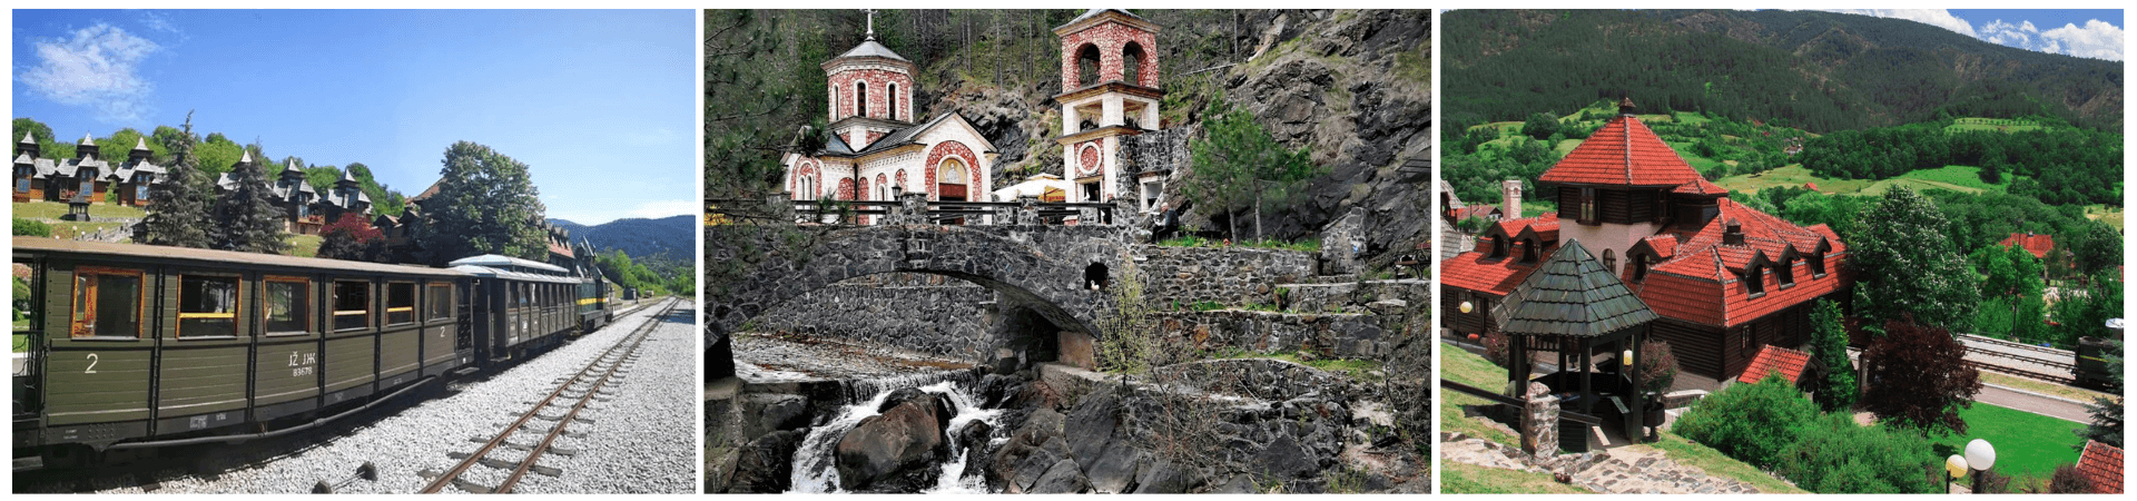
[[[878,11],[876,41],[915,64],[915,116],[962,113],[1000,152],[996,184],[1060,176],[1060,39],[1081,11]],[[1374,210],[1370,233],[1415,236],[1430,156],[1430,11],[1135,11],[1158,24],[1163,126],[1199,126],[1222,96],[1325,176],[1265,221],[1274,238]],[[825,128],[823,62],[861,43],[861,11],[705,11],[705,193],[759,199],[801,126]],[[1203,221],[1203,227],[1212,227]]]

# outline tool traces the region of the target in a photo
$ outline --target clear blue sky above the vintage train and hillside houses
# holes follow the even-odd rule
[[[692,11],[15,11],[13,116],[62,141],[177,126],[415,195],[453,141],[551,218],[697,214]]]

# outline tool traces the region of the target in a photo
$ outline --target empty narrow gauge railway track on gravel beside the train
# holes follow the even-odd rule
[[[579,418],[579,411],[592,405],[596,396],[603,392],[603,388],[622,379],[626,366],[633,360],[637,360],[639,347],[645,343],[648,336],[652,336],[654,328],[660,325],[660,319],[667,317],[667,313],[673,310],[675,304],[677,300],[658,302],[660,310],[645,317],[645,323],[641,323],[622,340],[618,340],[607,351],[596,355],[592,362],[586,364],[586,368],[579,368],[577,375],[571,375],[564,383],[551,390],[549,396],[536,400],[526,413],[519,415],[519,420],[504,426],[504,430],[500,430],[496,437],[483,443],[483,447],[470,452],[466,458],[453,465],[453,469],[436,473],[436,477],[430,484],[425,484],[421,492],[436,495],[442,492],[447,486],[455,486],[468,492],[513,492],[513,486],[517,486],[528,471],[556,475],[556,471],[551,469],[536,467],[536,462],[543,458],[543,454],[551,452],[551,445],[556,443],[558,437],[568,435],[566,428],[571,428],[573,422],[583,420]],[[551,407],[566,407],[566,409],[560,415],[543,415],[543,411],[549,411]],[[536,420],[553,422],[549,424],[549,430],[543,432],[539,443],[526,445],[526,454],[519,456],[517,460],[492,458],[492,454],[498,454],[502,450],[521,447],[517,443],[509,443],[509,439]],[[496,486],[485,486],[479,482],[464,480],[464,475],[477,465],[511,469],[511,473]],[[425,471],[425,475],[432,473]]]

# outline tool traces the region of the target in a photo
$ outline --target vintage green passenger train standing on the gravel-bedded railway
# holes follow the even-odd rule
[[[13,253],[30,285],[17,471],[314,428],[613,319],[590,259],[423,268],[51,238]]]

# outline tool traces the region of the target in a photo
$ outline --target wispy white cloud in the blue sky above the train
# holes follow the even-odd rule
[[[60,105],[92,107],[105,122],[143,122],[156,88],[139,66],[160,47],[109,24],[73,32],[73,39],[36,41],[36,66],[15,75],[30,94]]]

